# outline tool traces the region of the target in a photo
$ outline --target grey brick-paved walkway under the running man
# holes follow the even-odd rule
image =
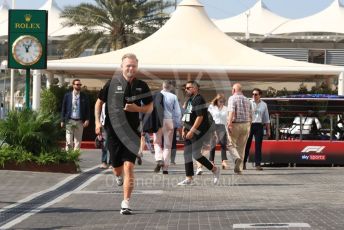
[[[97,150],[84,150],[82,169],[98,165],[99,159]],[[288,229],[342,229],[344,226],[342,167],[265,167],[264,171],[256,171],[249,165],[239,176],[233,170],[222,170],[216,186],[212,184],[212,174],[205,172],[195,176],[195,186],[189,187],[176,185],[185,177],[181,153],[168,175],[155,174],[153,168],[153,157],[148,153],[143,165],[136,166],[135,190],[130,202],[134,215],[120,215],[122,190],[116,186],[111,171],[96,170],[99,173],[87,184],[10,229],[287,229],[288,224]],[[0,208],[71,176],[0,171]]]

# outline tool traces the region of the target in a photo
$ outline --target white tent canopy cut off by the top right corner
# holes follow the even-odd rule
[[[339,0],[319,13],[311,16],[291,20],[277,28],[272,34],[292,33],[340,33],[344,34],[344,6]]]

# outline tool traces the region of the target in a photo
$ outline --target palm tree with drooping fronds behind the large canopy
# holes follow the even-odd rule
[[[65,57],[77,57],[85,49],[94,54],[117,50],[158,30],[169,18],[173,6],[163,0],[95,0],[66,7],[61,17],[66,26],[79,26],[79,33],[67,38]]]

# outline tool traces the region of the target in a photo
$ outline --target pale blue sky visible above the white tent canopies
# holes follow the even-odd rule
[[[17,9],[38,9],[46,0],[0,0],[11,6],[15,2]],[[55,0],[60,8],[74,6],[82,2],[94,3],[94,0]],[[180,2],[180,0],[177,0]],[[254,5],[257,0],[199,0],[210,18],[220,19],[235,16]],[[273,12],[287,18],[302,18],[329,6],[337,0],[263,0]],[[344,0],[340,0],[344,3]],[[174,0],[172,0],[174,2]]]

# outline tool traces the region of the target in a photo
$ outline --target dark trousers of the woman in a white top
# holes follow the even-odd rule
[[[209,160],[214,161],[216,145],[221,145],[221,160],[227,160],[227,134],[225,125],[215,125],[216,138],[211,139]]]

